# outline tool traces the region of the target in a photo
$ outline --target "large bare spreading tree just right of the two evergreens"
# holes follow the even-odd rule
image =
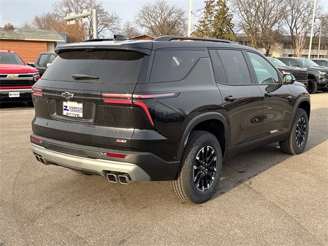
[[[279,32],[284,16],[284,2],[281,0],[231,0],[237,16],[236,27],[244,31],[251,39],[252,46],[258,49],[264,46],[269,54],[272,38]]]

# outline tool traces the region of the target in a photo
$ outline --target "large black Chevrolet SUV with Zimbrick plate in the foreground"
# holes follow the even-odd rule
[[[180,199],[201,203],[226,158],[277,141],[284,153],[304,150],[309,93],[257,50],[114,37],[56,48],[33,87],[39,162],[123,184],[172,180]]]

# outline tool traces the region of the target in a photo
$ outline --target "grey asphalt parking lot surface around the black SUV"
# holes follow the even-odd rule
[[[219,190],[182,203],[170,182],[118,185],[44,166],[33,108],[0,109],[0,245],[327,245],[328,94],[311,95],[305,152],[278,144],[228,159]]]

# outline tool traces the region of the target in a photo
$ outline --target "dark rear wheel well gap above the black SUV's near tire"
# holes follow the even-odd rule
[[[220,120],[209,119],[198,123],[193,129],[212,133],[220,143],[222,156],[224,155],[226,138],[224,137],[224,126]]]

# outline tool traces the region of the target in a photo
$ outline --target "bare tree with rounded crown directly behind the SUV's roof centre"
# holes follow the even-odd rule
[[[136,22],[152,36],[183,35],[187,33],[186,12],[166,0],[145,4],[136,16]]]

